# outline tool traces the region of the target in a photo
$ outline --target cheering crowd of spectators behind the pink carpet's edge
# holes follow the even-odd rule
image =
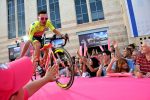
[[[109,50],[86,52],[86,56],[77,51],[75,73],[81,77],[104,77],[110,73],[121,73],[133,77],[150,77],[150,40],[144,40],[141,46],[129,44],[121,51],[116,41]],[[116,74],[117,75],[117,74]],[[118,74],[120,75],[120,74]]]

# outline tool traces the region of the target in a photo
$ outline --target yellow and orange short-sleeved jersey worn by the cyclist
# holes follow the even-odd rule
[[[51,29],[52,31],[55,29],[50,20],[47,20],[45,26],[40,25],[39,21],[32,23],[29,29],[29,40],[32,41],[33,36],[42,36],[47,28]]]

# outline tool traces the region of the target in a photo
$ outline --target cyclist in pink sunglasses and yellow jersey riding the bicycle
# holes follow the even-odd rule
[[[32,43],[35,53],[34,53],[34,61],[39,61],[40,58],[40,48],[42,47],[42,35],[44,32],[50,29],[53,31],[56,35],[61,35],[59,31],[55,29],[55,27],[52,25],[51,21],[48,19],[48,15],[46,11],[40,11],[38,13],[38,21],[35,21],[31,24],[29,28],[29,40],[26,42],[20,57],[23,57],[29,47],[29,45]]]

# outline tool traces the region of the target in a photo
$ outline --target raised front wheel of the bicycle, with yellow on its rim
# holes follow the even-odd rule
[[[54,49],[54,55],[59,65],[59,79],[57,85],[69,89],[74,82],[74,66],[70,54],[64,48]]]

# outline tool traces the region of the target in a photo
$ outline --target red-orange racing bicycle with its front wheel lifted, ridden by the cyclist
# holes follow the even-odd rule
[[[69,89],[74,82],[74,66],[70,54],[64,48],[66,43],[69,41],[68,34],[65,34],[63,37],[53,35],[51,38],[46,38],[44,35],[43,41],[44,46],[40,49],[40,59],[43,59],[42,53],[45,50],[48,50],[48,55],[44,64],[37,64],[36,71],[32,76],[32,80],[34,81],[40,77],[43,77],[48,67],[53,66],[53,64],[58,64],[59,79],[56,81],[56,83],[63,89]]]

